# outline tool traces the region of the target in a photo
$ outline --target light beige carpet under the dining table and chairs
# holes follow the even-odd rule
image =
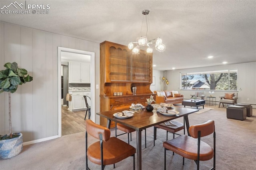
[[[256,109],[253,116],[246,120],[226,118],[226,108],[214,107],[205,114],[190,114],[190,125],[204,123],[209,119],[215,121],[216,127],[216,169],[217,170],[255,170],[255,134],[256,134]],[[183,122],[183,118],[176,119]],[[114,136],[114,130],[111,131]],[[183,130],[178,133],[182,134]],[[169,134],[169,139],[172,134]],[[164,169],[164,148],[162,143],[166,140],[166,131],[157,130],[156,146],[153,146],[153,127],[147,128],[147,148],[145,148],[144,133],[142,132],[142,170]],[[127,141],[127,135],[118,136]],[[204,142],[211,146],[212,136],[203,137]],[[88,144],[96,141],[90,136]],[[130,144],[136,147],[136,132],[132,132]],[[212,167],[213,160],[200,161],[200,170]],[[137,164],[136,164],[137,165]],[[167,152],[168,170],[194,170],[196,164],[193,160]],[[99,165],[89,161],[91,170],[100,169]],[[0,159],[1,170],[84,170],[85,168],[85,134],[80,132],[62,136],[61,138],[24,146],[22,152],[14,158]],[[108,165],[105,170],[112,170],[113,165]],[[126,158],[116,164],[115,170],[132,169],[132,157]]]

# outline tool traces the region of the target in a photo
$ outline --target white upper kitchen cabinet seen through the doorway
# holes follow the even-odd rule
[[[90,63],[68,62],[68,83],[90,83]]]

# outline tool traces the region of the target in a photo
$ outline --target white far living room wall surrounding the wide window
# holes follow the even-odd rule
[[[180,73],[196,73],[227,69],[238,70],[238,103],[248,103],[252,104],[253,107],[256,107],[256,62],[168,71],[168,80],[170,84],[167,89],[179,91],[179,93],[184,95],[185,99],[190,99],[190,94],[194,94],[194,91],[180,89]],[[229,91],[215,91],[213,96],[216,97],[216,101],[219,101],[219,96],[224,95],[225,92]],[[208,91],[206,91],[206,96],[210,96]],[[249,99],[249,101],[247,101],[247,99]]]

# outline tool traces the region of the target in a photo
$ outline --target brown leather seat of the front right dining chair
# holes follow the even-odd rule
[[[164,148],[183,156],[184,158],[197,160],[196,138],[187,135],[178,136],[172,140],[163,143]],[[200,142],[200,160],[210,160],[214,155],[213,148],[201,140]]]

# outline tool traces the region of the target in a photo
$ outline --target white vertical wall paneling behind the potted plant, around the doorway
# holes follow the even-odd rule
[[[95,52],[94,81],[99,84],[100,44],[3,22],[0,35],[0,69],[16,61],[34,78],[12,94],[13,132],[22,132],[24,142],[30,143],[58,136],[58,47]],[[100,110],[99,89],[94,93],[95,119]],[[1,93],[0,134],[8,132],[8,93]]]

